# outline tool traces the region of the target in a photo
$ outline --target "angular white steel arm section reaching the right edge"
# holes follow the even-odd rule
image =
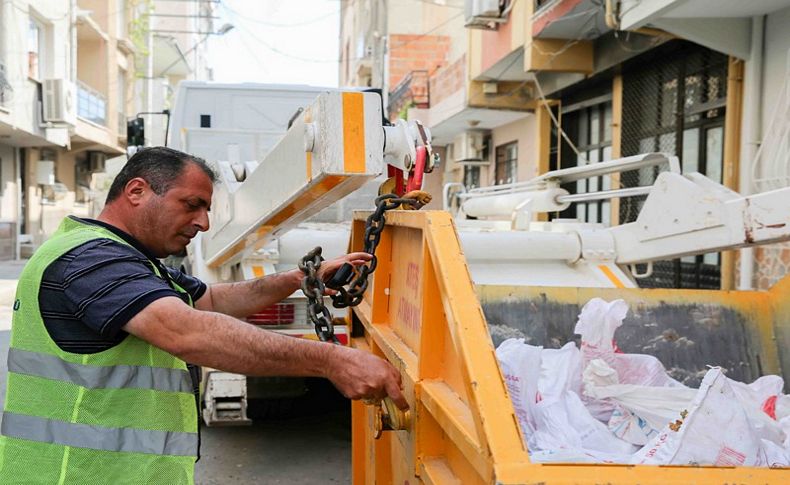
[[[635,222],[609,229],[618,264],[790,240],[790,188],[742,197],[698,173],[659,175]]]

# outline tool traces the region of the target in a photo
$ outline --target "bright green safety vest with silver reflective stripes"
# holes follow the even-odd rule
[[[66,218],[20,276],[0,429],[2,484],[194,482],[197,408],[186,363],[133,335],[98,353],[65,352],[44,327],[44,271],[99,238],[128,244]]]

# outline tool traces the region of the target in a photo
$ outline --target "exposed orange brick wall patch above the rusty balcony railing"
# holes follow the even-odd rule
[[[412,71],[432,74],[447,64],[449,51],[450,37],[445,35],[390,35],[387,89],[392,91]]]

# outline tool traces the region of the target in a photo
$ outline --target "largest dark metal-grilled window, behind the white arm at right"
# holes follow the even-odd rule
[[[623,69],[624,157],[665,152],[680,158],[683,172],[700,172],[722,181],[727,56],[676,41],[656,49],[656,56]],[[624,187],[652,184],[659,170],[625,172]],[[636,220],[645,197],[622,199],[620,222]],[[642,287],[708,288],[721,285],[719,253],[653,264]]]

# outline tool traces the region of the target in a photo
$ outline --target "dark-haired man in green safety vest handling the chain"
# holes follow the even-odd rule
[[[206,287],[159,262],[208,230],[214,179],[199,158],[142,150],[98,220],[64,219],[28,262],[14,305],[0,483],[191,483],[198,422],[186,362],[326,377],[349,398],[408,407],[388,362],[234,318],[293,293],[299,270]],[[369,259],[326,261],[319,275]]]

